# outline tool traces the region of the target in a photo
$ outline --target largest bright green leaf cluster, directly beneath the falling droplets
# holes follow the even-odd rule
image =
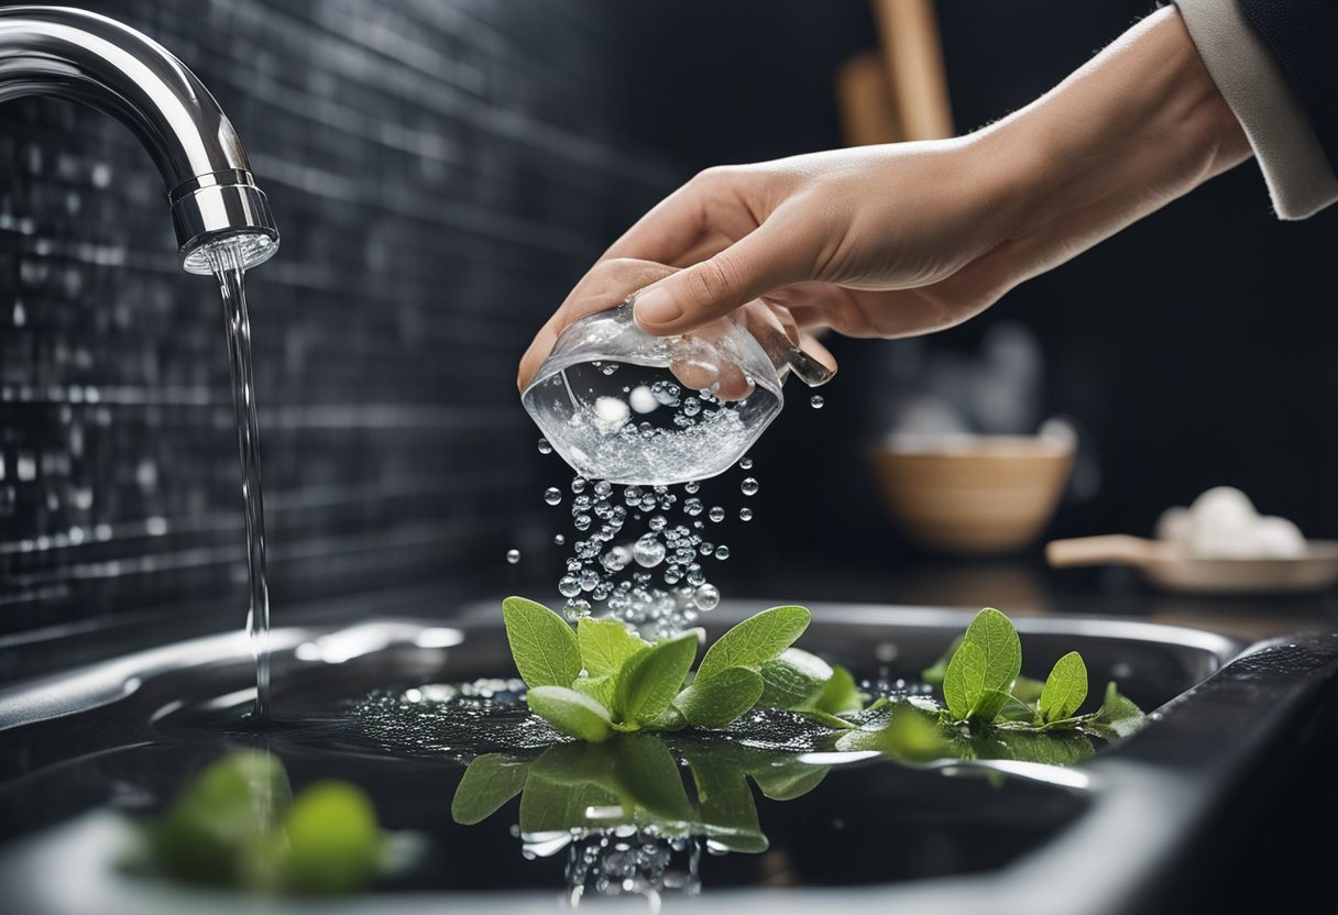
[[[654,645],[617,619],[582,619],[573,633],[558,614],[518,597],[502,603],[502,615],[530,709],[591,744],[617,732],[724,728],[763,698],[768,665],[788,682],[777,694],[783,708],[830,717],[863,701],[848,672],[789,649],[808,627],[804,607],[743,621],[710,646],[690,681],[701,630]],[[789,658],[780,662],[781,654]]]

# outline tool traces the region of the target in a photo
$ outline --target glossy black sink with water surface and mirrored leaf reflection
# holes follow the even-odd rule
[[[712,637],[756,609],[721,605],[706,619]],[[894,689],[970,621],[934,609],[812,610],[805,649]],[[450,625],[405,617],[276,631],[277,724],[265,733],[242,717],[253,688],[240,637],[0,693],[0,880],[25,912],[83,911],[90,896],[72,896],[72,886],[96,887],[106,912],[234,907],[227,892],[202,895],[120,866],[132,824],[161,815],[209,762],[256,748],[280,761],[293,792],[328,779],[365,791],[396,847],[413,849],[377,879],[375,911],[553,911],[563,888],[567,899],[700,891],[693,907],[708,911],[739,892],[764,892],[777,911],[1125,911],[1156,891],[1176,848],[1267,756],[1287,717],[1279,710],[1303,709],[1338,659],[1329,637],[1246,647],[1132,621],[1022,618],[1024,674],[1044,677],[1078,650],[1093,684],[1115,680],[1156,710],[1149,725],[1062,769],[815,753],[799,732],[728,741],[728,752],[690,733],[546,749],[549,734],[533,752],[490,760],[479,740],[442,730],[423,686],[484,680],[504,690],[496,678],[514,668],[499,615],[490,602]],[[377,696],[413,696],[419,708],[377,705]],[[467,777],[491,784],[495,803],[452,812]],[[1121,853],[1112,859],[1113,847]],[[368,898],[341,903],[356,908],[359,899]]]

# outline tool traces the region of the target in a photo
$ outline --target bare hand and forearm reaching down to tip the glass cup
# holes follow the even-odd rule
[[[701,173],[578,284],[526,353],[520,387],[567,324],[633,292],[638,324],[657,334],[757,301],[797,328],[850,336],[945,329],[1248,154],[1167,7],[966,136]]]

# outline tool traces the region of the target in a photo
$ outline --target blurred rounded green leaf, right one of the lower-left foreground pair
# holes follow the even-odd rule
[[[297,796],[284,823],[289,890],[352,892],[367,886],[381,860],[381,829],[367,793],[344,781],[320,781]]]

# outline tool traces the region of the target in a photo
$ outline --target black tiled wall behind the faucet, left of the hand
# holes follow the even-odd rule
[[[591,0],[115,0],[238,130],[276,602],[495,567],[535,511],[542,317],[674,183]],[[245,613],[221,305],[120,124],[0,106],[0,641]],[[542,506],[538,506],[542,508]],[[5,674],[0,654],[0,678]],[[12,665],[11,665],[12,666]]]

